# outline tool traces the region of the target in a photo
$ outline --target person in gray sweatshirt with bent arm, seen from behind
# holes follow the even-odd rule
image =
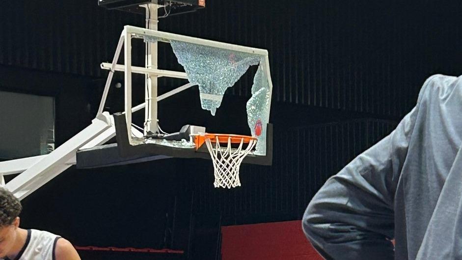
[[[462,260],[461,144],[462,76],[434,75],[390,135],[326,181],[303,231],[326,260]]]

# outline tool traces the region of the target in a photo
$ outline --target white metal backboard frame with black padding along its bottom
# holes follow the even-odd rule
[[[120,120],[122,117],[114,115],[117,143],[119,144],[118,148],[119,148],[119,151],[122,157],[124,157],[124,155],[134,156],[133,154],[134,150],[131,149],[129,146],[127,146],[127,144],[133,147],[140,146],[140,145],[141,146],[147,145],[148,147],[151,147],[151,148],[141,149],[141,146],[140,146],[135,149],[136,152],[138,153],[142,153],[146,155],[147,154],[169,155],[169,152],[166,152],[165,149],[163,149],[162,147],[156,148],[156,146],[163,146],[163,145],[139,144],[139,142],[134,141],[134,139],[140,139],[140,138],[143,138],[143,136],[140,136],[139,132],[137,132],[138,133],[137,135],[132,134],[133,132],[136,133],[136,131],[132,131],[132,127],[133,127],[132,126],[132,113],[138,110],[141,110],[142,108],[145,108],[146,104],[148,104],[148,107],[152,108],[153,107],[151,106],[152,102],[158,102],[164,98],[168,98],[176,93],[179,93],[185,89],[188,89],[189,87],[195,86],[195,84],[188,83],[184,86],[175,88],[163,95],[157,96],[156,98],[146,98],[146,101],[144,103],[138,104],[137,106],[133,107],[133,104],[132,104],[132,73],[144,74],[148,76],[155,76],[157,78],[170,77],[170,78],[178,78],[178,79],[188,79],[187,73],[181,72],[181,71],[160,70],[157,68],[154,69],[154,68],[133,66],[132,65],[132,39],[142,38],[143,36],[155,37],[156,39],[158,39],[158,41],[165,42],[165,43],[170,43],[171,40],[182,41],[182,42],[187,42],[187,43],[192,43],[192,44],[197,44],[197,45],[209,46],[209,47],[214,47],[214,48],[219,48],[219,49],[224,49],[224,50],[230,50],[230,51],[236,51],[236,52],[241,52],[241,53],[255,54],[255,55],[262,56],[260,66],[262,67],[262,70],[264,71],[264,75],[266,75],[267,80],[268,80],[269,95],[270,95],[269,108],[271,108],[272,80],[271,80],[269,57],[268,57],[267,50],[252,48],[252,47],[245,47],[245,46],[223,43],[223,42],[217,42],[217,41],[206,40],[206,39],[200,39],[200,38],[184,36],[184,35],[179,35],[179,34],[174,34],[174,33],[168,33],[168,32],[163,32],[163,31],[158,31],[158,30],[144,29],[144,28],[138,28],[138,27],[133,27],[133,26],[125,26],[119,38],[119,42],[118,42],[117,49],[116,49],[114,58],[112,60],[112,63],[102,63],[101,64],[101,68],[109,70],[109,75],[108,75],[106,86],[103,92],[103,97],[101,99],[100,107],[98,109],[98,115],[97,115],[98,117],[99,115],[103,113],[103,108],[105,106],[107,95],[109,93],[109,86],[110,86],[114,71],[123,71],[124,72],[124,86],[125,86],[125,93],[124,93],[125,104],[124,104],[124,113],[123,113],[123,117],[124,117],[123,121],[125,122],[124,127],[120,125]],[[117,64],[116,62],[121,54],[122,47],[124,48],[124,64]],[[157,106],[154,106],[154,107],[157,109]],[[157,115],[157,111],[155,114]],[[147,118],[146,120],[156,120],[157,121],[157,118]],[[146,124],[146,121],[145,121],[145,124]],[[245,159],[244,163],[271,165],[272,163],[272,125],[271,124],[268,124],[268,125],[270,127],[268,127],[267,132],[271,131],[271,135],[267,136],[267,153],[265,155],[249,154],[248,155],[249,158]],[[125,133],[122,133],[121,131],[125,131]],[[127,140],[124,140],[125,137]],[[171,148],[168,148],[168,149],[174,150]],[[207,158],[206,156],[208,156],[208,151],[207,149],[205,149],[205,147],[203,148],[205,149],[204,151],[201,151],[201,149],[197,150],[195,152],[197,153],[197,155],[190,155],[189,152],[186,152],[187,149],[185,148],[182,148],[182,149],[183,149],[183,152],[173,153],[172,156],[181,157],[181,158],[191,158],[191,157]],[[203,154],[204,156],[202,156],[201,153],[204,153]],[[261,157],[261,159],[258,159],[259,157]]]

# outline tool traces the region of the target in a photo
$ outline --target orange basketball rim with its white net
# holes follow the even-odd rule
[[[197,135],[195,138],[196,149],[204,143],[207,145],[214,163],[214,186],[228,189],[241,186],[239,168],[245,156],[257,144],[257,138],[229,134]],[[221,147],[220,144],[227,146]],[[234,148],[233,146],[237,147]]]

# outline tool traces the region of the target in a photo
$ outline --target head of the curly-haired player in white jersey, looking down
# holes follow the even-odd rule
[[[8,190],[0,187],[0,258],[9,253],[16,241],[21,202]]]

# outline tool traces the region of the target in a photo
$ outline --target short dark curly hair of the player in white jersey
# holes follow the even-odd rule
[[[19,199],[5,188],[0,187],[0,227],[13,224],[22,209],[23,206]]]

